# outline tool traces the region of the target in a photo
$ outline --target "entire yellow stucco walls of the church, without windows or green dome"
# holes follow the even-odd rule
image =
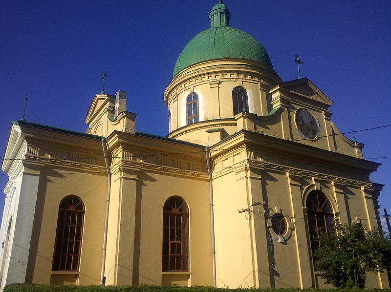
[[[234,116],[236,86],[245,87],[249,108]],[[186,125],[186,98],[192,92],[199,97],[200,122]],[[86,118],[88,133],[107,136],[104,146],[111,158],[108,285],[213,284],[202,146],[210,147],[217,287],[329,287],[313,268],[305,206],[311,190],[326,195],[342,223],[378,224],[374,193],[379,187],[369,180],[378,165],[362,159],[362,144],[341,135],[330,119],[332,101],[307,79],[282,83],[270,68],[236,59],[184,69],[164,94],[171,113],[168,137],[182,142],[135,133],[136,115],[129,112],[108,119],[113,100],[96,95]],[[318,122],[318,137],[304,139],[299,133],[295,113],[301,108]],[[108,187],[100,137],[32,129],[23,128],[27,138],[21,151],[30,162],[45,161],[26,281],[97,285]],[[72,161],[89,156],[82,163]],[[58,207],[67,195],[80,197],[86,206],[80,271],[53,272]],[[171,196],[189,207],[189,271],[162,272],[163,205]],[[283,238],[271,228],[275,213],[288,223]],[[387,275],[368,275],[368,287],[388,285]]]

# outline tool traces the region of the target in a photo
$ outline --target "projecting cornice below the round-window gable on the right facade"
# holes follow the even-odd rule
[[[249,133],[251,133],[250,138],[255,134],[241,131],[227,139],[227,141],[224,141],[224,143],[220,143],[218,146],[212,146],[212,163],[214,165],[221,163],[225,158],[233,156],[235,151],[246,151],[242,157],[266,163],[276,170],[300,170],[301,173],[307,176],[317,176],[316,170],[318,170],[321,171],[319,172],[319,176],[324,179],[331,180],[334,177],[342,175],[343,180],[348,182],[358,180],[369,182],[369,174],[375,169],[372,167],[372,162],[327,150],[324,150],[327,153],[327,155],[325,155],[323,153],[324,151],[320,151],[322,149],[319,148],[316,148],[318,151],[317,153],[311,153],[311,151],[315,152],[315,150],[308,150],[308,147],[302,144],[297,146],[299,149],[301,148],[301,151],[296,151],[295,149],[295,151],[292,151],[292,142],[288,143],[289,141],[285,140],[282,140],[282,142],[286,143],[281,143],[284,145],[275,147],[275,144],[277,144],[275,141],[277,139],[272,139],[273,137],[266,139],[263,136],[261,136],[261,141],[259,140],[260,137],[258,137],[258,139],[255,139],[256,137],[254,137],[254,139],[248,139],[249,135],[247,134]],[[281,141],[281,139],[278,140]],[[311,153],[311,155],[308,155],[309,153]],[[341,159],[341,156],[343,156],[343,159]],[[270,161],[270,159],[272,161]],[[292,165],[297,165],[297,167],[292,167]],[[374,166],[377,167],[377,164]],[[328,169],[332,170],[328,171]],[[325,172],[322,172],[323,170]],[[359,177],[359,175],[361,175],[361,177]]]

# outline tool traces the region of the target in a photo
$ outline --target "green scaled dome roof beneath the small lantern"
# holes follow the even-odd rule
[[[242,58],[273,68],[266,50],[255,38],[230,26],[218,26],[188,42],[176,60],[174,76],[190,65],[219,58]]]

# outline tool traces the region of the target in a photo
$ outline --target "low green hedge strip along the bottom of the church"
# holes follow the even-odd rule
[[[13,284],[4,288],[4,292],[391,292],[391,289],[256,289],[256,288],[213,288],[204,286],[60,286],[60,285],[24,285]]]

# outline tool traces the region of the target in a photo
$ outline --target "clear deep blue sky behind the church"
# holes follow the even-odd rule
[[[217,0],[0,0],[0,151],[12,120],[85,131],[95,93],[128,92],[136,130],[166,135],[163,91],[176,58],[209,28]],[[389,0],[225,0],[231,26],[257,38],[283,81],[307,77],[334,101],[334,124],[352,131],[391,124],[391,5]],[[382,163],[373,182],[391,213],[391,127],[348,134]],[[379,158],[388,157],[388,158]],[[5,187],[7,176],[0,175]],[[0,204],[4,202],[3,196]],[[2,208],[2,206],[1,206]]]

